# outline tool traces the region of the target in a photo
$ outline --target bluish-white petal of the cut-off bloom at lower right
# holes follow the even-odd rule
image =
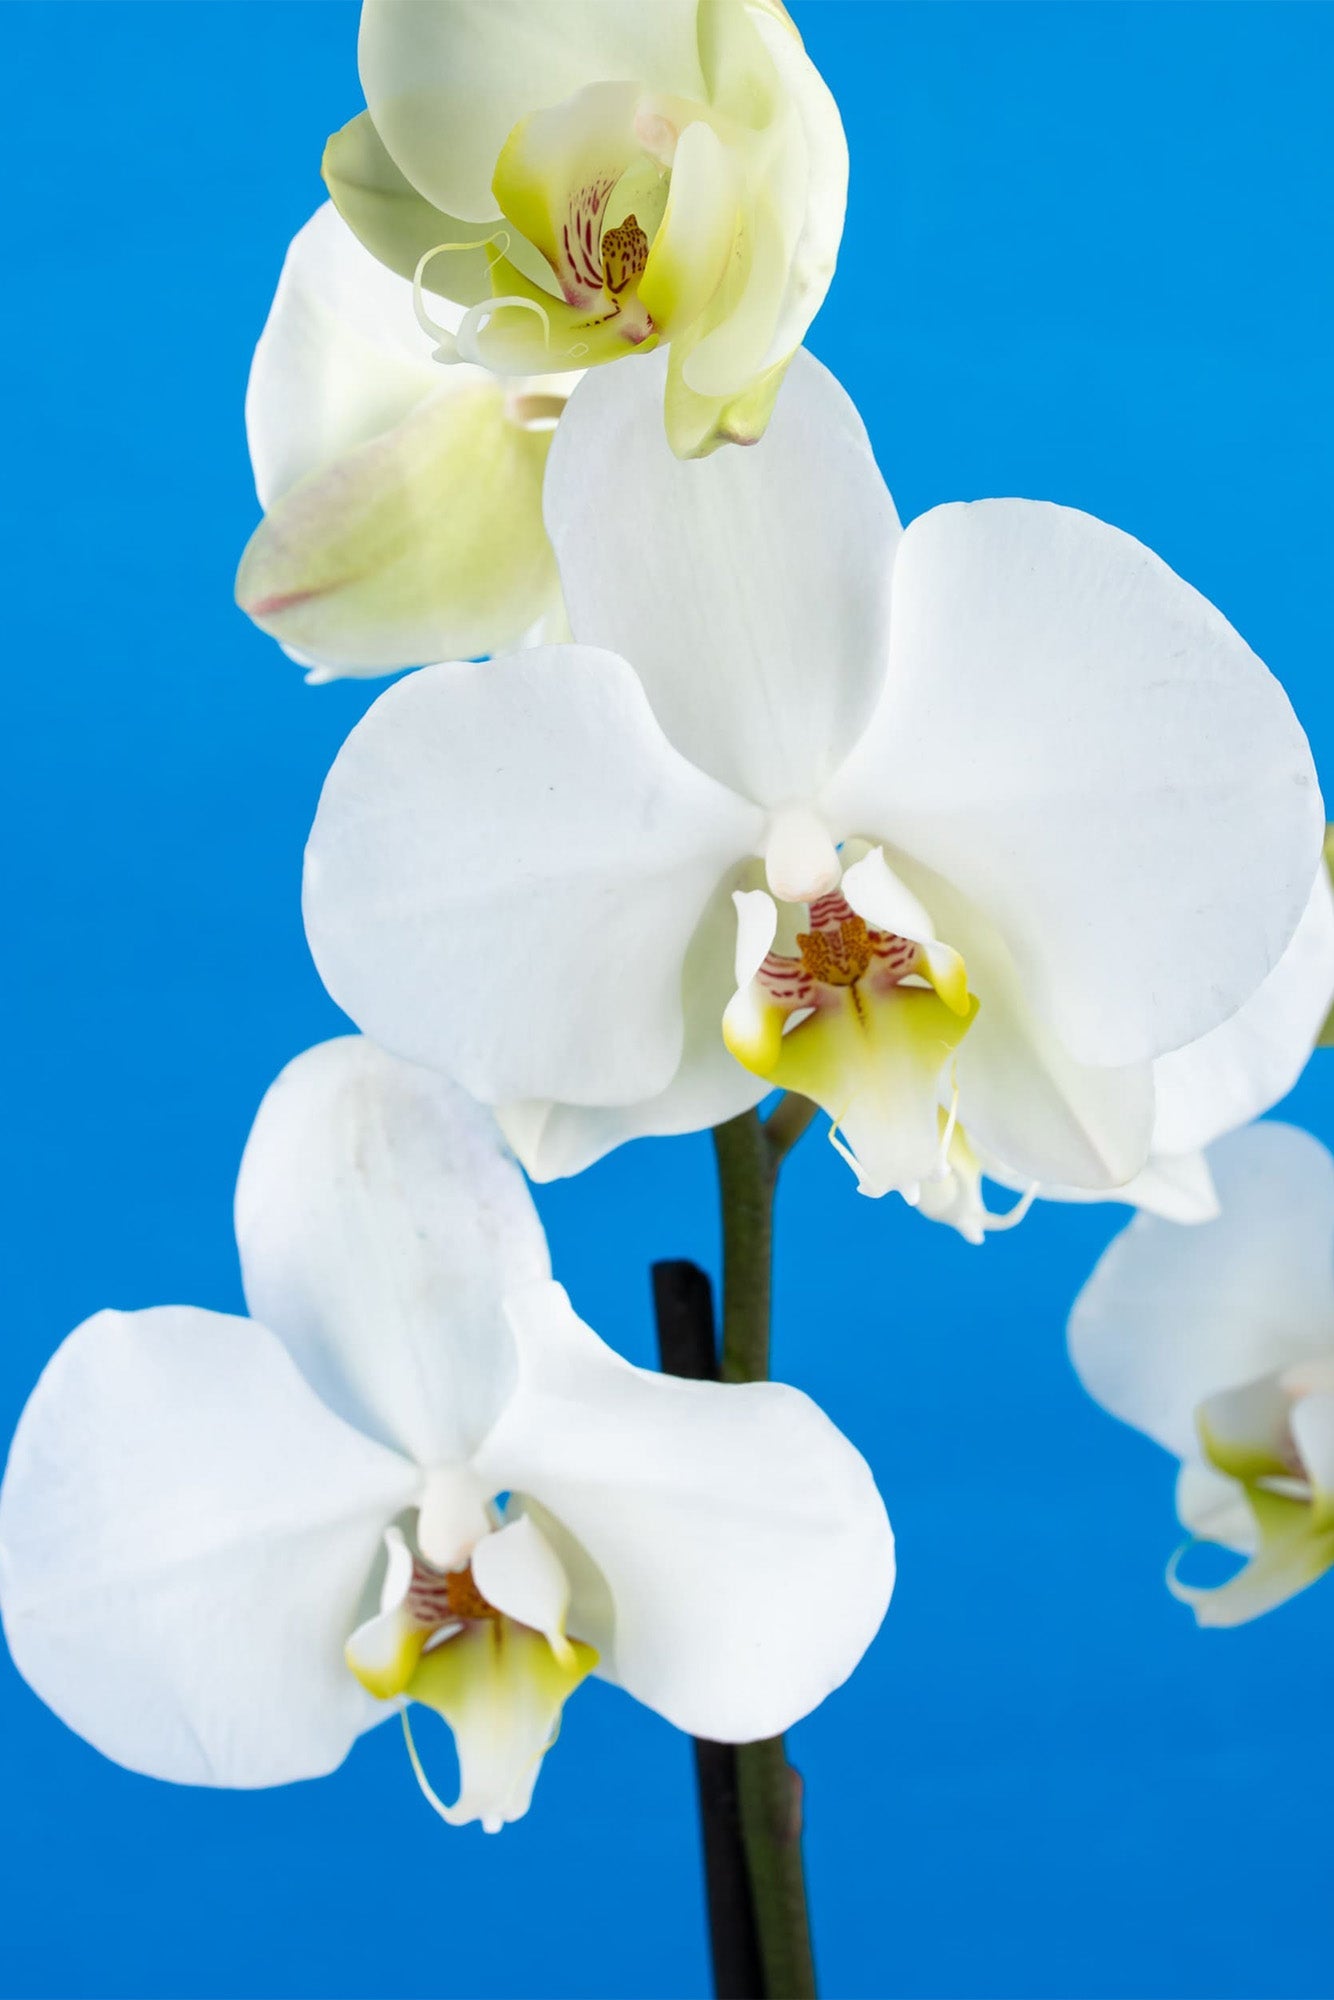
[[[1222,1214],[1140,1214],[1070,1314],[1070,1358],[1114,1416],[1196,1458],[1206,1396],[1334,1348],[1334,1160],[1294,1126],[1210,1150]]]

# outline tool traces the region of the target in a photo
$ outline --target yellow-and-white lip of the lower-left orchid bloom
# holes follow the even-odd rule
[[[408,1694],[454,1732],[458,1798],[436,1802],[442,1818],[480,1820],[488,1834],[522,1820],[560,1710],[596,1664],[592,1646],[578,1642],[558,1660],[540,1632],[510,1618],[480,1618],[428,1652]]]

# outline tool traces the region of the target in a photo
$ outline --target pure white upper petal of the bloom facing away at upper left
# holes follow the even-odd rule
[[[332,202],[316,208],[292,238],[250,364],[246,436],[260,506],[434,396],[450,370],[432,350],[412,286],[362,250]]]

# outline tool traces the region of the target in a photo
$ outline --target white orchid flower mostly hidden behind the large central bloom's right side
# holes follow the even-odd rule
[[[1022,1220],[1034,1194],[1048,1202],[1126,1202],[1168,1222],[1210,1222],[1218,1194],[1204,1148],[1286,1098],[1316,1048],[1334,1006],[1334,892],[1322,864],[1292,944],[1264,984],[1220,1028],[1154,1062],[1154,1134],[1148,1162],[1124,1188],[1028,1188],[1002,1160],[982,1160],[960,1124],[948,1146],[950,1172],[922,1186],[920,1208],[968,1242]],[[982,1180],[1012,1188],[1020,1202],[992,1212]]]

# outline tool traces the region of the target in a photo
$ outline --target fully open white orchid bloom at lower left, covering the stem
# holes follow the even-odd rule
[[[14,1664],[106,1756],[284,1784],[416,1702],[460,1760],[458,1802],[428,1796],[494,1830],[594,1670],[728,1742],[852,1672],[894,1578],[864,1460],[798,1390],[612,1354],[454,1086],[308,1050],[236,1234],[252,1318],[86,1320],[0,1488]]]

